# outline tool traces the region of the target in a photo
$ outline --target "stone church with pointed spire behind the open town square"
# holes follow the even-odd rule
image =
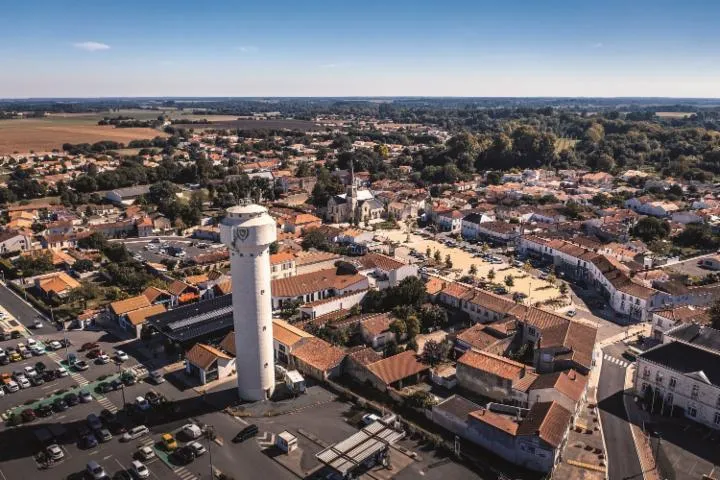
[[[350,185],[345,193],[333,195],[327,203],[326,218],[331,223],[376,223],[385,213],[383,203],[373,193],[362,188],[358,190],[355,172],[350,165]]]

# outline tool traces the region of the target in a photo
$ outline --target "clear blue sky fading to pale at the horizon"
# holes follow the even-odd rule
[[[0,16],[0,98],[720,97],[715,0],[25,0]]]

